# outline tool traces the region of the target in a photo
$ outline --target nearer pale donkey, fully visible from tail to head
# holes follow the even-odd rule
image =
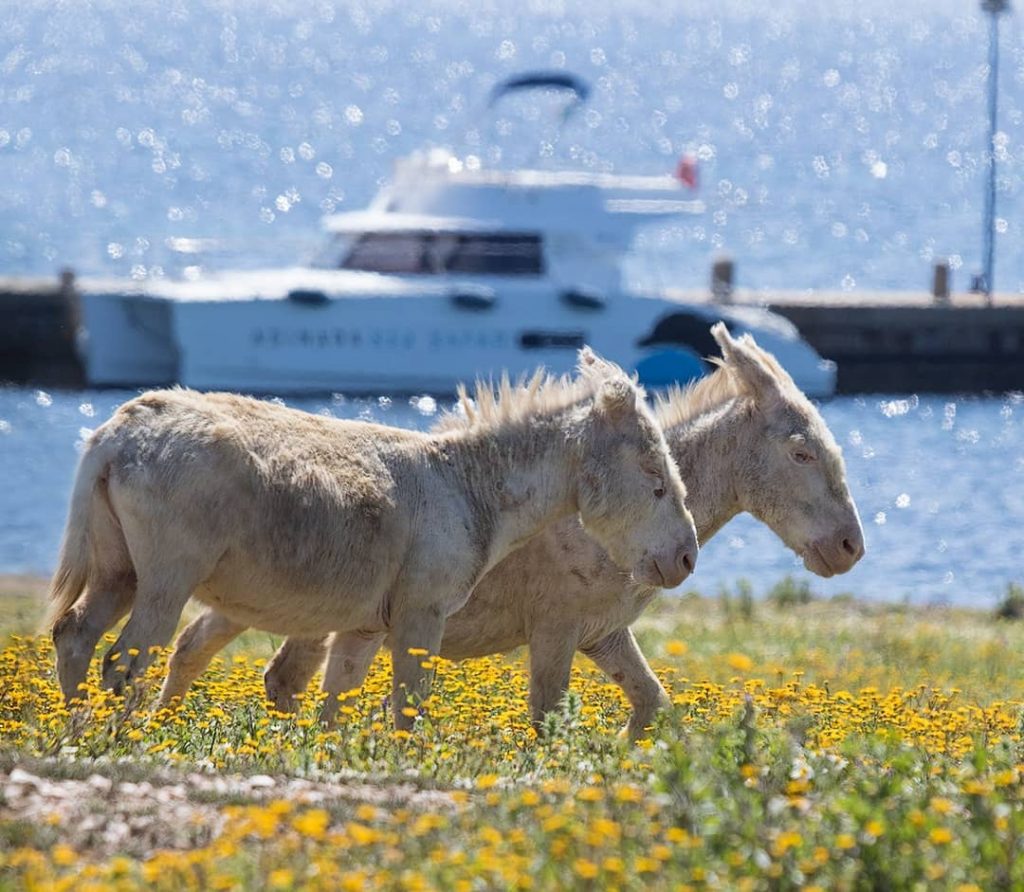
[[[642,391],[581,352],[571,383],[507,381],[458,430],[338,421],[226,393],[164,390],[92,435],[54,577],[70,700],[129,609],[103,683],[136,678],[190,596],[238,631],[390,635],[396,723],[422,656],[478,580],[579,512],[622,574],[675,585],[696,559],[685,491]]]

